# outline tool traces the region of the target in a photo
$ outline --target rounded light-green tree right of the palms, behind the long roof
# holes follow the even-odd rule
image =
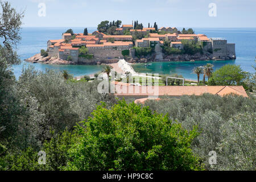
[[[242,71],[240,65],[228,64],[212,73],[211,81],[214,85],[240,85],[246,78],[246,72]]]

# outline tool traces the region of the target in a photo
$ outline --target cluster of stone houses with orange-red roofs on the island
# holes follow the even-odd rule
[[[124,31],[129,31],[131,35],[123,35]],[[59,57],[59,59],[67,60],[71,56],[72,61],[79,63],[82,58],[79,48],[85,46],[88,54],[96,59],[121,59],[122,51],[129,50],[130,56],[134,55],[133,46],[135,47],[154,47],[156,45],[163,46],[164,41],[169,41],[172,48],[183,49],[183,40],[197,40],[204,51],[211,50],[213,56],[217,59],[230,59],[236,56],[235,45],[228,44],[225,39],[208,38],[204,34],[180,34],[175,27],[162,27],[159,31],[164,34],[157,34],[155,28],[142,28],[142,30],[134,30],[133,24],[123,24],[121,28],[116,28],[118,35],[105,35],[102,32],[94,31],[92,34],[63,34],[62,39],[48,40],[48,55]],[[143,35],[146,38],[133,40],[134,35]],[[136,36],[135,36],[136,37]]]

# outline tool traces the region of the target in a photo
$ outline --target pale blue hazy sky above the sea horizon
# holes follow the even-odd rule
[[[2,0],[5,1],[5,0]],[[138,20],[147,27],[256,27],[256,0],[9,0],[24,27],[97,27]],[[45,7],[45,8],[44,8]],[[45,16],[44,16],[45,15]]]

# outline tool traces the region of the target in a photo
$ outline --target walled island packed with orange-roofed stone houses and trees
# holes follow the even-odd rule
[[[195,34],[192,28],[182,31],[176,27],[144,28],[133,21],[102,21],[98,30],[74,34],[72,29],[61,39],[48,40],[47,50],[41,50],[26,61],[45,64],[113,64],[119,59],[130,63],[150,61],[195,61],[236,59],[234,43],[224,38],[208,38]]]

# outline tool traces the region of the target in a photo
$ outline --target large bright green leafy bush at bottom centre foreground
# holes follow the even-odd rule
[[[68,170],[197,170],[189,148],[196,130],[188,133],[168,116],[148,107],[119,101],[102,104],[77,126],[76,143],[68,150]]]

